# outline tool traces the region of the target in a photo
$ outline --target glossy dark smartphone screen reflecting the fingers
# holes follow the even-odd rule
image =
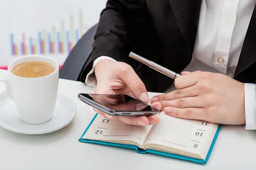
[[[81,94],[94,102],[114,111],[158,111],[128,95],[118,94]]]

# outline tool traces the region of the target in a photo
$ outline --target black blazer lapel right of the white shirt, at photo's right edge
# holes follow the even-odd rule
[[[234,77],[256,61],[256,8],[250,20]]]

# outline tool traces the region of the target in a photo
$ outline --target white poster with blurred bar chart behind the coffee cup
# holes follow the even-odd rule
[[[84,33],[99,21],[106,1],[6,1],[6,62],[26,55],[44,55],[62,64]]]

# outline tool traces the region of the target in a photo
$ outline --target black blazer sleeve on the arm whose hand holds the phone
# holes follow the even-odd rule
[[[81,82],[92,69],[93,60],[100,56],[126,62],[136,69],[139,63],[128,55],[131,51],[143,54],[148,49],[149,25],[145,0],[108,0],[100,14],[92,55],[85,64]]]

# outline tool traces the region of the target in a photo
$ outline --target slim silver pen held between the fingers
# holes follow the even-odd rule
[[[162,74],[164,74],[164,75],[166,75],[168,77],[171,77],[172,79],[176,79],[177,77],[180,77],[180,74],[175,73],[175,72],[173,72],[171,70],[168,70],[167,68],[164,68],[163,66],[158,65],[157,63],[152,62],[152,61],[150,61],[148,59],[145,59],[145,58],[143,58],[143,57],[141,57],[138,54],[135,54],[133,52],[131,52],[129,54],[129,57],[131,57],[133,59],[136,59],[137,61],[147,65],[150,68],[153,68],[154,70],[156,70],[156,71],[158,71],[158,72],[160,72],[160,73],[162,73]]]

